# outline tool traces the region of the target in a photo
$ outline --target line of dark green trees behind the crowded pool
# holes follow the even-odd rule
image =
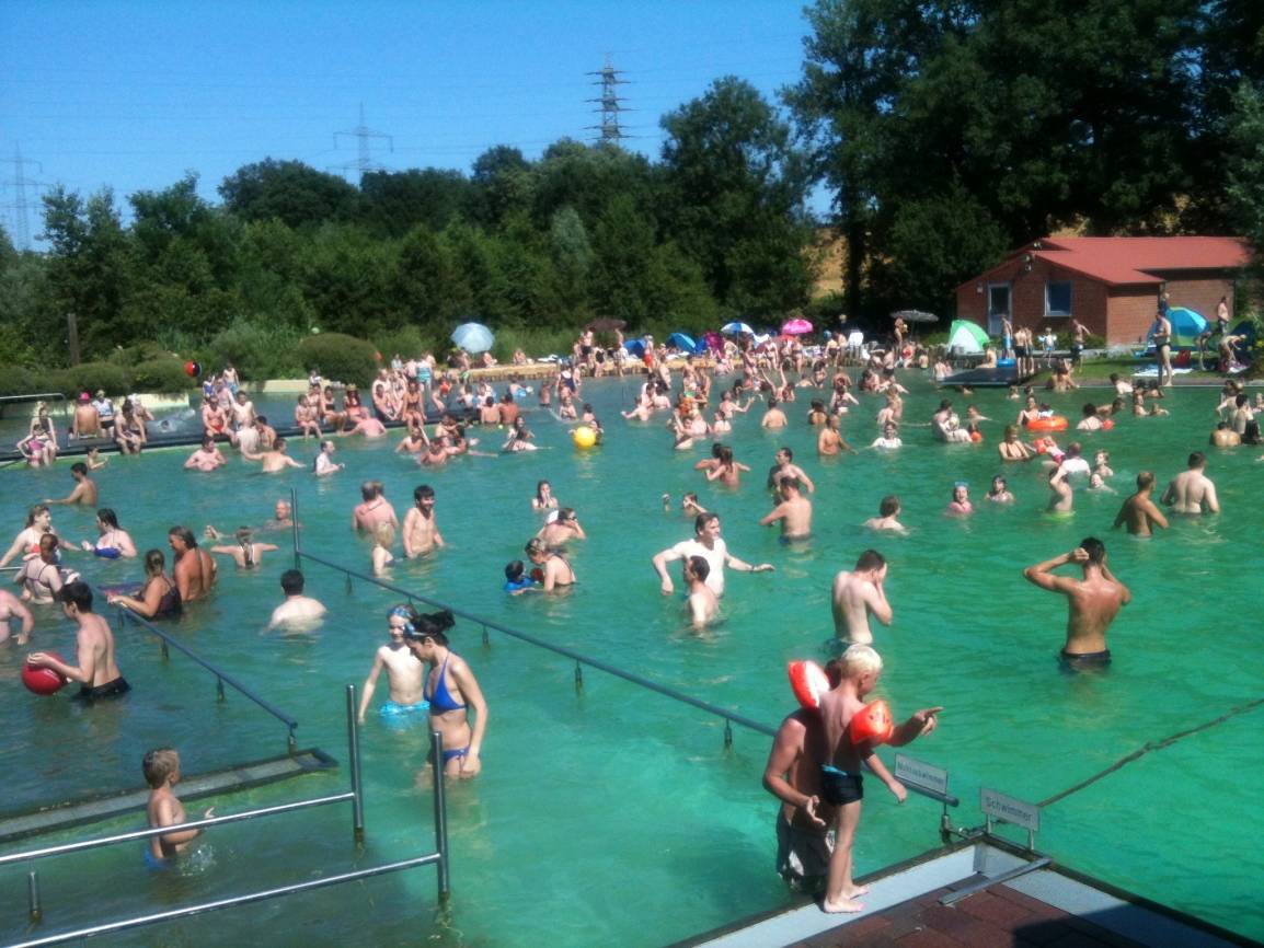
[[[810,303],[819,228],[853,319],[945,313],[1043,234],[1245,234],[1264,245],[1264,4],[817,0],[801,78],[724,77],[662,116],[657,161],[564,139],[470,172],[358,185],[264,159],[126,197],[54,188],[47,253],[0,239],[0,360],[63,364],[249,327],[360,337],[454,321],[772,322]],[[813,187],[834,195],[825,220]],[[886,325],[885,321],[882,325]]]

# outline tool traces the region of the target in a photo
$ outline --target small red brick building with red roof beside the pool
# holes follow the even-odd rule
[[[1159,295],[1208,320],[1220,297],[1234,311],[1234,278],[1250,259],[1240,238],[1042,238],[957,287],[957,319],[1000,335],[1015,326],[1067,330],[1072,317],[1107,344],[1144,339]]]

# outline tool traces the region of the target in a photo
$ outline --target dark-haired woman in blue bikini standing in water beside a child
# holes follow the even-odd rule
[[[412,626],[404,631],[404,641],[428,666],[423,696],[430,702],[431,727],[444,737],[444,774],[473,777],[483,769],[487,702],[470,666],[449,647],[445,632],[453,627],[453,613],[418,614]]]

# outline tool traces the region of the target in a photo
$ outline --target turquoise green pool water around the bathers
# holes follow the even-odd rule
[[[939,394],[920,380],[908,399],[910,422],[928,418]],[[632,383],[627,386],[628,397]],[[593,386],[608,431],[603,449],[578,454],[565,430],[535,412],[531,423],[550,450],[531,455],[468,458],[421,471],[383,445],[340,442],[348,470],[315,482],[302,471],[265,478],[243,469],[214,475],[182,471],[185,451],[115,459],[101,471],[102,504],[115,507],[138,546],[164,546],[176,522],[196,532],[260,523],[272,503],[296,487],[305,546],[367,569],[368,549],[348,528],[364,478],[387,484],[401,512],[413,485],[437,492],[437,516],[449,547],[439,556],[398,565],[391,579],[418,593],[522,628],[560,645],[638,671],[747,717],[776,724],[791,707],[785,661],[817,657],[830,635],[828,592],[838,569],[866,546],[891,562],[890,629],[877,631],[887,662],[881,691],[897,714],[947,705],[940,729],[911,753],[952,774],[963,805],[958,824],[981,822],[978,787],[1043,800],[1110,766],[1146,742],[1212,720],[1260,696],[1264,661],[1255,648],[1260,622],[1254,594],[1261,561],[1264,513],[1254,503],[1264,466],[1258,449],[1216,453],[1210,474],[1226,513],[1182,520],[1153,542],[1110,533],[1117,506],[1140,469],[1162,483],[1202,447],[1212,427],[1215,391],[1178,391],[1172,416],[1124,418],[1111,432],[1088,436],[1111,450],[1119,495],[1077,492],[1072,521],[1040,516],[1047,492],[1031,466],[1006,471],[1018,494],[1012,508],[982,508],[971,520],[942,516],[954,480],[971,484],[976,503],[999,469],[1001,422],[985,426],[982,447],[945,447],[925,428],[905,431],[894,454],[815,458],[814,431],[790,406],[793,425],[770,434],[757,412],[727,437],[755,471],[737,490],[704,483],[693,470],[703,447],[675,453],[657,422],[623,422],[619,382]],[[1093,394],[1057,397],[1074,417]],[[958,407],[966,399],[957,397]],[[973,398],[983,415],[1010,420],[1004,392]],[[279,403],[278,403],[279,407]],[[873,437],[876,399],[844,422],[854,444]],[[392,439],[391,446],[393,447]],[[498,432],[487,437],[498,446]],[[815,538],[786,550],[774,530],[757,526],[769,509],[763,471],[781,444],[795,449],[815,479]],[[306,456],[296,447],[296,456]],[[494,450],[494,449],[492,449]],[[28,503],[63,495],[70,477],[9,470],[0,475],[0,523],[21,526]],[[575,546],[579,586],[561,597],[508,598],[501,570],[522,556],[538,525],[530,498],[540,478],[575,507],[590,538]],[[691,533],[678,507],[684,490],[723,517],[729,549],[748,561],[770,561],[774,574],[731,574],[724,622],[707,637],[690,635],[680,599],[659,593],[650,556]],[[878,499],[904,501],[909,537],[873,537],[857,525]],[[92,535],[88,512],[58,509],[58,530]],[[1103,676],[1059,674],[1064,607],[1020,575],[1024,565],[1096,533],[1134,602],[1111,632],[1115,665]],[[284,545],[288,537],[278,537]],[[224,568],[216,597],[173,628],[228,671],[258,688],[301,722],[300,744],[345,760],[343,686],[359,684],[384,640],[384,609],[394,599],[365,584],[346,593],[340,575],[307,564],[308,592],[331,607],[311,635],[263,631],[279,599],[277,576],[289,565],[272,554],[255,574]],[[82,561],[86,561],[83,557]],[[81,562],[82,562],[81,561]],[[91,576],[116,583],[138,576],[135,564],[92,562]],[[679,581],[678,581],[679,585]],[[64,621],[39,616],[39,647],[73,643]],[[758,785],[767,738],[723,724],[600,672],[585,672],[576,698],[574,667],[562,659],[459,623],[455,647],[470,661],[487,694],[490,724],[484,772],[450,794],[454,896],[435,911],[434,871],[325,890],[272,905],[186,919],[116,937],[119,944],[236,944],[268,930],[277,943],[416,943],[531,945],[656,945],[786,901],[772,871],[775,806]],[[120,665],[135,691],[125,702],[81,710],[64,696],[35,699],[16,684],[23,648],[0,646],[0,767],[8,775],[5,810],[140,784],[140,755],[172,743],[196,774],[284,750],[284,728],[230,693],[215,702],[214,681],[178,655],[163,662],[143,631],[119,635]],[[379,699],[384,689],[379,686]],[[1260,878],[1256,841],[1264,818],[1253,780],[1264,766],[1258,739],[1264,709],[1249,710],[1129,763],[1044,813],[1040,848],[1074,868],[1140,895],[1194,913],[1255,938],[1264,918],[1251,908]],[[139,847],[51,860],[39,866],[46,901],[42,932],[91,924],[177,901],[204,901],[354,866],[403,858],[430,848],[430,791],[417,777],[423,728],[393,732],[370,718],[364,732],[368,846],[350,843],[346,806],[224,827],[209,834],[197,873],[154,878]],[[332,793],[345,774],[303,777],[226,796],[219,813]],[[206,804],[196,804],[196,808]],[[191,810],[195,809],[191,806]],[[139,814],[138,814],[139,817]],[[857,842],[858,871],[870,872],[933,847],[938,809],[911,798],[904,806],[877,787]],[[104,829],[135,825],[119,820]],[[245,868],[249,866],[249,868]],[[23,934],[24,867],[0,872],[0,939]],[[284,933],[284,934],[282,934]]]

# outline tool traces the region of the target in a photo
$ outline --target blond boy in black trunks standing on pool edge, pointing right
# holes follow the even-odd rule
[[[857,743],[852,739],[852,720],[865,708],[865,695],[873,690],[882,674],[881,656],[871,646],[852,645],[843,652],[839,662],[842,678],[820,696],[820,719],[825,727],[829,753],[828,762],[820,765],[820,795],[825,803],[837,808],[834,852],[829,857],[825,897],[820,902],[820,908],[829,913],[861,911],[865,905],[856,901],[856,897],[868,891],[867,886],[858,886],[852,880],[852,843],[856,842],[861,800],[865,796],[861,762],[887,785],[896,800],[904,803],[909,795],[904,784],[891,776],[873,753],[872,741]],[[929,734],[935,729],[935,714],[942,710],[943,708],[923,708],[916,712],[895,728],[887,743],[900,747]]]

